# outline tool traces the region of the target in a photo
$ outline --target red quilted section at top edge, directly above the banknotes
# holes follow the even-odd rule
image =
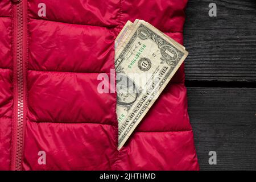
[[[187,0],[122,1],[122,21],[143,19],[162,32],[183,32]]]

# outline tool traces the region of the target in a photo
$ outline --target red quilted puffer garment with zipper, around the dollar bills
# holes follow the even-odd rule
[[[182,44],[186,4],[1,0],[0,169],[199,169],[184,65],[120,151],[117,96],[97,92],[127,20],[146,20]]]

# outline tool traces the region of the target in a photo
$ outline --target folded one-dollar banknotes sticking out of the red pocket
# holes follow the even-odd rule
[[[183,46],[147,22],[125,24],[115,39],[118,150],[187,55]]]

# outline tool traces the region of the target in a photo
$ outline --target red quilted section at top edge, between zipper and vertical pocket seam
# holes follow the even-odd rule
[[[44,0],[47,16],[43,19],[87,24],[101,27],[116,27],[119,24],[120,0]],[[38,4],[41,0],[28,0],[29,16],[38,19]]]

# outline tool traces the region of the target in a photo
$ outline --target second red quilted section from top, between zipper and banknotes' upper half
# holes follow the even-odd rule
[[[28,68],[44,71],[110,72],[114,68],[114,32],[31,19]]]

